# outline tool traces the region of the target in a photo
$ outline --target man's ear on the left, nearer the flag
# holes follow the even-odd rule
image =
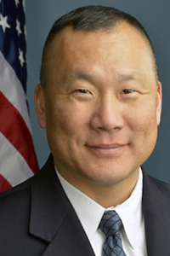
[[[34,93],[34,101],[37,112],[37,120],[42,128],[46,128],[46,112],[45,112],[45,92],[42,89],[41,84],[37,84],[35,93]]]

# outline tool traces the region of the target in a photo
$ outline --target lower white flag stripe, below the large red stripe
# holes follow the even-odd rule
[[[33,176],[31,168],[23,156],[8,142],[0,132],[0,174],[8,180],[13,187]]]

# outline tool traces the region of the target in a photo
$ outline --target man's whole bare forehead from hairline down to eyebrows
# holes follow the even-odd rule
[[[97,66],[102,66],[108,73],[114,72],[115,67],[144,68],[145,63],[154,72],[149,44],[140,32],[125,22],[110,31],[73,31],[72,27],[66,27],[54,39],[50,59],[51,68],[59,67],[60,73],[64,70],[66,72],[66,69],[90,69]]]

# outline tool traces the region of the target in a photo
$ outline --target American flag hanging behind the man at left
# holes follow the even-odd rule
[[[26,103],[24,0],[0,0],[0,192],[38,172]]]

